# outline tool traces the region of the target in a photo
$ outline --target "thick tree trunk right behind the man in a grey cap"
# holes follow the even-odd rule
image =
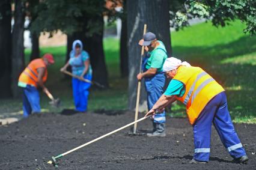
[[[135,109],[138,80],[136,74],[139,73],[139,63],[141,59],[141,46],[138,41],[142,38],[144,24],[147,24],[147,32],[154,32],[158,40],[163,41],[168,53],[171,53],[171,35],[169,31],[169,2],[168,0],[147,1],[129,0],[127,1],[127,29],[128,29],[128,58],[129,58],[129,106],[130,110]],[[147,94],[142,82],[140,111],[145,111]]]

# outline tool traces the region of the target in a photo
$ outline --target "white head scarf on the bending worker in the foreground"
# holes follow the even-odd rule
[[[180,59],[177,59],[177,58],[174,58],[174,57],[166,58],[165,63],[163,63],[163,71],[166,72],[166,71],[175,70],[180,65],[184,65],[184,66],[187,66],[187,67],[191,66],[188,62],[186,62],[186,61],[181,62]]]

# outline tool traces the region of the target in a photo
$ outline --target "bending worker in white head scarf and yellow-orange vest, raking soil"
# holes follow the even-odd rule
[[[248,161],[245,149],[234,130],[228,112],[225,90],[200,67],[171,57],[165,60],[163,71],[172,80],[165,93],[145,115],[154,115],[175,100],[186,105],[187,117],[194,131],[195,154],[190,163],[206,163],[210,157],[212,123],[234,162]]]

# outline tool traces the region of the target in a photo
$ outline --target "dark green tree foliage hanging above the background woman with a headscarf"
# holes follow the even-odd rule
[[[87,35],[99,32],[98,22],[91,18],[102,16],[106,11],[105,1],[90,0],[44,0],[35,7],[38,17],[31,25],[31,29],[38,34],[61,30],[66,34],[84,31]],[[87,20],[87,22],[85,22]]]

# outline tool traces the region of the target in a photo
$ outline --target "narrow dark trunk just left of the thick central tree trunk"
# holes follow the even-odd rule
[[[128,49],[127,49],[127,13],[126,13],[126,1],[124,1],[122,17],[122,28],[120,38],[120,70],[121,76],[128,76]]]

